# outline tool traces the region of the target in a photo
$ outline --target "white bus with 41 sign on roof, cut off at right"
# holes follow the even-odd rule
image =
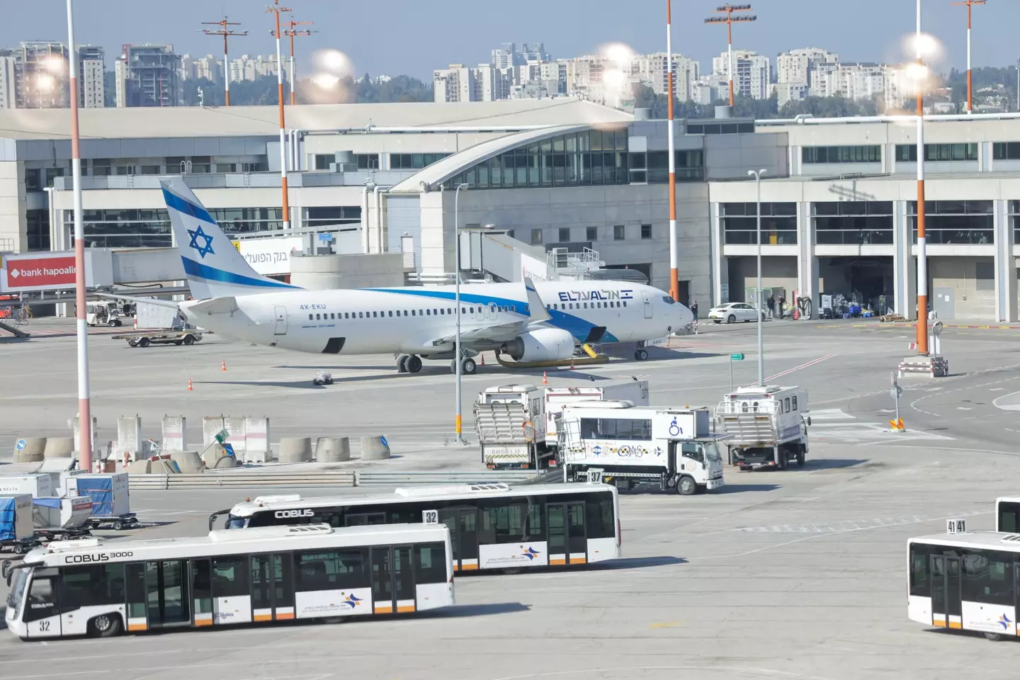
[[[951,630],[973,630],[989,640],[1017,635],[1020,609],[1020,534],[965,531],[911,538],[907,547],[908,616]]]

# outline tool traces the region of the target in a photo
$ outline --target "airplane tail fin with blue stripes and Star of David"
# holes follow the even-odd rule
[[[268,278],[252,269],[185,184],[184,177],[160,179],[159,184],[193,298],[201,300],[297,290],[297,286]]]

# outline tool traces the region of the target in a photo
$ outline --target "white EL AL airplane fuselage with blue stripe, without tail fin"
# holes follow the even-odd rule
[[[624,343],[662,337],[691,322],[690,310],[662,291],[619,281],[537,282],[550,315],[531,327],[561,328],[574,342]],[[497,349],[527,327],[523,283],[461,285],[461,333],[480,333],[475,351]],[[439,358],[452,351],[457,328],[451,285],[287,291],[240,296],[237,310],[213,314],[182,308],[189,321],[238,339],[298,352],[417,354]],[[503,330],[500,330],[500,329]],[[482,331],[481,329],[490,329]],[[444,339],[446,338],[446,339]]]

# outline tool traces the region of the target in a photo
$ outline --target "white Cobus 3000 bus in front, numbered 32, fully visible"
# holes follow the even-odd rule
[[[3,563],[21,639],[404,614],[454,604],[445,526],[324,524],[54,541]],[[11,582],[13,581],[13,582]]]

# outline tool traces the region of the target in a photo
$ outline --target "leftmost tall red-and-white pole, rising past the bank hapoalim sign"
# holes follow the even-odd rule
[[[85,234],[82,224],[82,150],[78,126],[78,47],[74,14],[67,1],[67,52],[70,76],[70,167],[74,195],[74,306],[78,336],[79,468],[92,472],[92,404],[89,398],[89,325],[85,300]],[[62,228],[62,225],[61,225]]]

